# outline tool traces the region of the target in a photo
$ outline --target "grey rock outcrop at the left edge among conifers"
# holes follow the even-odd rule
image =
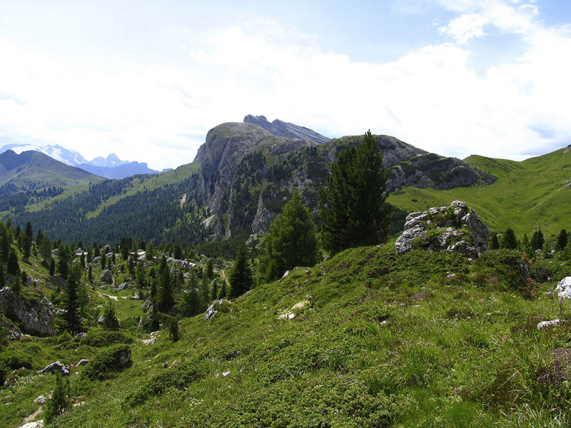
[[[21,329],[32,335],[46,336],[54,331],[56,311],[47,297],[27,302],[4,287],[0,290],[0,311],[16,317],[21,322]]]

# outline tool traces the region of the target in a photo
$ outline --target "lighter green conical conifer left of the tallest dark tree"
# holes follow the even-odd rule
[[[262,282],[281,277],[296,266],[313,266],[318,261],[317,238],[311,214],[301,203],[298,190],[272,221],[266,233],[266,248],[260,256],[258,275]]]

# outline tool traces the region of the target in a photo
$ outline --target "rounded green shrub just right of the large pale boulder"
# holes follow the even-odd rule
[[[516,250],[490,250],[482,253],[474,265],[476,274],[483,275],[485,286],[497,286],[503,290],[522,290],[527,284],[522,276],[522,257]],[[499,282],[494,285],[492,278]]]

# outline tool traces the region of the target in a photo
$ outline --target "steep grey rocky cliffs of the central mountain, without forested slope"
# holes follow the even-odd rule
[[[187,200],[208,208],[214,240],[229,239],[236,233],[244,237],[265,233],[295,189],[317,215],[317,190],[325,184],[330,164],[340,151],[362,139],[347,136],[317,143],[310,138],[276,135],[276,128],[285,122],[269,123],[263,116],[246,116],[245,121],[248,123],[223,123],[213,128],[196,155],[201,167]],[[294,131],[306,129],[287,125]],[[310,133],[298,135],[309,137]],[[405,185],[444,189],[495,179],[459,159],[428,153],[397,138],[375,139],[389,170],[389,192]]]

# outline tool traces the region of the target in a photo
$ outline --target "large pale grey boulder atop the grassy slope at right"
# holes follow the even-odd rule
[[[477,258],[487,250],[489,238],[490,231],[474,210],[468,210],[466,203],[455,200],[445,207],[410,213],[395,249],[398,254],[413,248],[449,250]]]

